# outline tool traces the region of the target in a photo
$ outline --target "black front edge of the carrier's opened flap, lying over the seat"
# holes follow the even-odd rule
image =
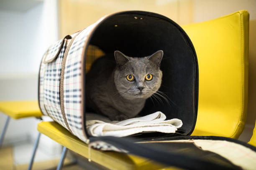
[[[134,143],[129,138],[116,138],[116,137],[97,137],[90,138],[90,143],[95,141],[104,141],[110,145],[114,145],[117,148],[127,150],[129,153],[142,156],[151,160],[155,160],[165,165],[171,165],[183,169],[189,170],[237,170],[241,169],[234,165],[233,167],[227,167],[218,165],[201,158],[184,155],[181,153],[169,153],[164,150],[154,148],[154,145]]]

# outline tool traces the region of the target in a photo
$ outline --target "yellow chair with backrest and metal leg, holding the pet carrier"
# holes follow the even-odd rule
[[[183,26],[191,38],[199,62],[199,109],[192,135],[238,138],[247,108],[248,12],[238,11],[215,20]],[[163,168],[147,159],[91,150],[56,122],[40,122],[38,131],[67,148],[111,169]]]

